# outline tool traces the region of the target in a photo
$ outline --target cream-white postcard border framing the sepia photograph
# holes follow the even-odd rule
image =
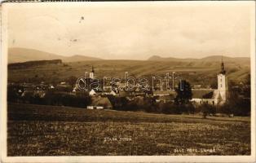
[[[130,5],[136,2],[22,2],[24,6],[58,6],[73,7],[81,5]],[[7,14],[12,2],[2,3],[1,25],[1,161],[2,162],[254,162],[255,160],[255,2],[137,2],[145,5],[229,5],[251,4],[251,155],[250,156],[7,156]]]

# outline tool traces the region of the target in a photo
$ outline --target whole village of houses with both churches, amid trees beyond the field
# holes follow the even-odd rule
[[[190,99],[193,105],[210,104],[222,105],[227,99],[227,77],[223,61],[221,62],[221,71],[218,73],[218,89],[202,88],[201,85],[191,86],[192,98]],[[95,84],[95,70],[92,67],[89,77],[85,78],[84,85]],[[95,86],[90,90],[82,90],[79,80],[73,85],[67,81],[61,81],[59,84],[46,84],[45,81],[35,85],[33,83],[9,83],[8,91],[12,93],[11,99],[15,102],[27,104],[51,104],[51,105],[70,105],[87,109],[124,109],[126,104],[133,103],[141,106],[153,104],[174,104],[174,99],[177,96],[177,91],[174,89],[164,90],[159,82],[155,87],[148,89],[145,85],[136,84],[133,89],[127,89],[129,83],[116,82],[99,89]],[[172,83],[176,89],[179,83]],[[181,86],[181,85],[180,85]],[[178,88],[181,89],[182,88]],[[66,100],[60,99],[65,97]],[[53,99],[57,101],[51,102]],[[58,100],[60,99],[60,100]],[[78,104],[74,104],[77,99]],[[72,100],[73,102],[71,102]],[[84,101],[83,101],[84,100]],[[42,102],[44,101],[44,102]],[[50,101],[50,102],[49,102]],[[65,102],[63,102],[65,101]],[[69,102],[68,102],[69,101]],[[79,105],[79,103],[82,103]]]

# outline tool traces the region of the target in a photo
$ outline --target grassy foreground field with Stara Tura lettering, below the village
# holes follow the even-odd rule
[[[249,155],[249,117],[8,104],[8,156]]]

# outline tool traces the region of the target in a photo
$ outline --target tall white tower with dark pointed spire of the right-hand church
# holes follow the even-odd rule
[[[227,99],[227,77],[223,59],[221,62],[221,70],[218,73],[218,99],[220,103],[225,103]]]

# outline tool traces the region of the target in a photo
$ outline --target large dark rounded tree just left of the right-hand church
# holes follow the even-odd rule
[[[177,96],[174,99],[175,104],[184,105],[189,104],[192,99],[192,90],[190,83],[186,80],[179,82],[178,88],[175,89]]]

